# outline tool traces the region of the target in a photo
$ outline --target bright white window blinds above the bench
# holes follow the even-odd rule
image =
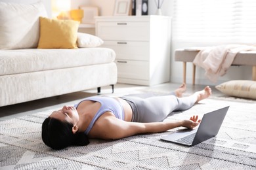
[[[256,42],[255,0],[175,0],[173,39]]]

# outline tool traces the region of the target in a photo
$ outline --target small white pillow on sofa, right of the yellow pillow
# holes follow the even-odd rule
[[[103,44],[102,39],[87,33],[77,33],[77,46],[79,48],[97,47]]]

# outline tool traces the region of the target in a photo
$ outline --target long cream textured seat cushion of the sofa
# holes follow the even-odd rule
[[[110,48],[1,50],[0,75],[110,63],[115,58]]]

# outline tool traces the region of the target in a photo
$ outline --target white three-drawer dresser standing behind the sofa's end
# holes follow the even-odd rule
[[[99,16],[96,35],[116,52],[120,83],[151,86],[169,81],[169,16]]]

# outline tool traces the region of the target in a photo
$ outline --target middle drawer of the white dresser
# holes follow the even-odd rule
[[[144,41],[104,41],[102,45],[112,48],[117,59],[149,61],[150,43]]]

